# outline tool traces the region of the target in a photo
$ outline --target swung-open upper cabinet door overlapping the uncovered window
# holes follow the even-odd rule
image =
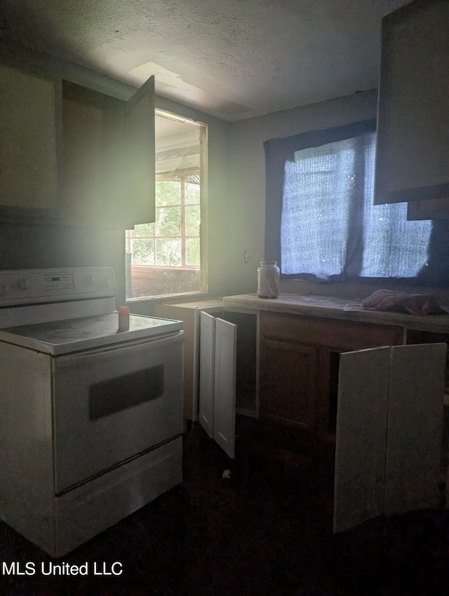
[[[154,222],[154,76],[128,100],[128,227]]]

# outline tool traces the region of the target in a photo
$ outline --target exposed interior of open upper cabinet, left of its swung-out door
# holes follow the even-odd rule
[[[125,229],[126,104],[69,81],[62,93],[65,221]]]

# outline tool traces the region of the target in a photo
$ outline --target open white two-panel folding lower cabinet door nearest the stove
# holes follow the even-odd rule
[[[237,326],[200,315],[199,419],[206,433],[234,459]]]

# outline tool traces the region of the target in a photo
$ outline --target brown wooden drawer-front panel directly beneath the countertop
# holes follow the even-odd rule
[[[281,313],[261,313],[261,339],[319,344],[337,351],[403,343],[402,327]]]

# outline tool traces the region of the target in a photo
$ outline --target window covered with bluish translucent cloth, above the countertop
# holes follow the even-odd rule
[[[315,140],[314,133],[298,135],[300,145],[313,146],[290,144],[277,158],[283,172],[276,257],[283,276],[415,278],[427,264],[431,222],[407,221],[406,203],[373,205],[375,132],[372,122],[361,124],[333,129],[336,140],[322,144],[323,131]],[[270,152],[273,158],[266,147],[267,201]]]

